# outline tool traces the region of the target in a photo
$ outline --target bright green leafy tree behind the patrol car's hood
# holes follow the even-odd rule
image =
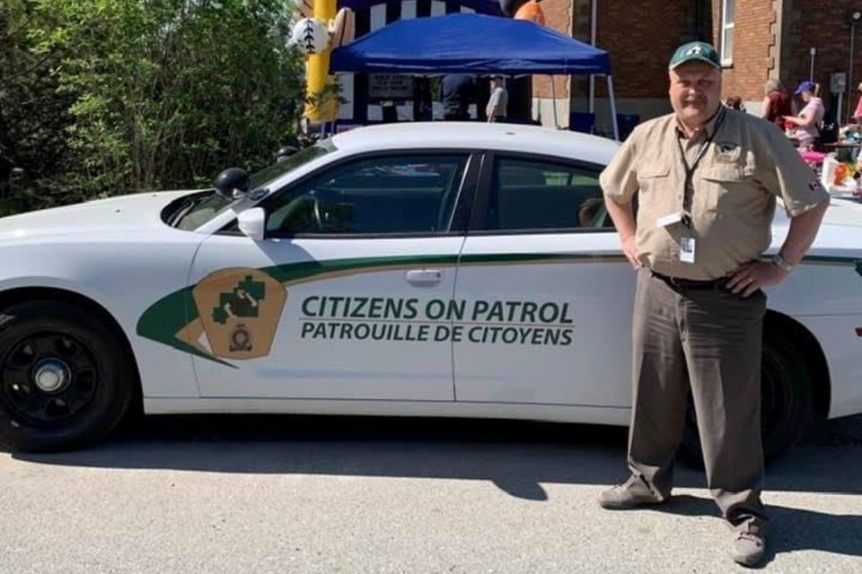
[[[288,0],[15,0],[66,102],[66,188],[108,196],[209,183],[293,138],[303,60]],[[61,114],[62,115],[62,114]]]

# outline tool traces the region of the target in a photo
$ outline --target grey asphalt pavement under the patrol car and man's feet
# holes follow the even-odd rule
[[[0,573],[734,572],[697,468],[609,512],[626,430],[148,417],[95,448],[0,452]],[[770,465],[767,572],[862,572],[862,417]]]

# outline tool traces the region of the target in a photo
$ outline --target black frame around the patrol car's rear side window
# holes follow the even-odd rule
[[[476,191],[476,200],[473,203],[468,235],[472,236],[507,236],[507,235],[561,235],[561,234],[585,234],[585,233],[616,233],[612,226],[608,227],[575,227],[575,228],[540,228],[529,230],[488,230],[485,229],[488,217],[488,206],[491,200],[491,186],[494,183],[494,168],[497,160],[509,159],[515,161],[543,161],[550,165],[559,165],[567,170],[593,171],[596,179],[604,170],[605,166],[591,161],[573,160],[561,158],[556,155],[547,155],[531,152],[500,152],[488,151],[482,161],[482,171],[479,174],[479,182]],[[600,187],[601,188],[601,187]],[[610,220],[610,215],[606,215]]]

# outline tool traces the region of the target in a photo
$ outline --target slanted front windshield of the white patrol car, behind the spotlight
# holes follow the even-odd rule
[[[251,175],[251,190],[266,188],[277,178],[334,150],[335,146],[330,140],[324,140],[300,150],[282,161],[277,161],[277,163]],[[224,213],[241,201],[242,197],[230,199],[216,193],[215,190],[203,194],[194,194],[182,202],[181,206],[172,214],[169,223],[180,230],[196,230],[216,215]]]

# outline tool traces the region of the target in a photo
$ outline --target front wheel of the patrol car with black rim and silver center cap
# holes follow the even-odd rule
[[[85,307],[39,300],[0,311],[0,442],[57,452],[104,438],[127,411],[134,370]]]

